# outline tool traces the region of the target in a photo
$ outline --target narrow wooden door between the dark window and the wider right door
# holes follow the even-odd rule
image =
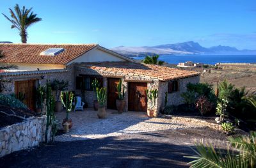
[[[116,99],[118,98],[116,86],[118,82],[118,78],[108,78],[108,109],[116,109]]]

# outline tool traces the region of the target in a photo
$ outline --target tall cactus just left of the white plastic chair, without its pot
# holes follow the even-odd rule
[[[72,111],[72,101],[74,99],[74,93],[72,91],[61,91],[61,103],[66,108],[66,119],[69,119],[69,112]]]

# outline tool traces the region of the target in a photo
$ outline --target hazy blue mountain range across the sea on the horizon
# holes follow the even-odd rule
[[[190,41],[184,43],[174,43],[156,45],[152,47],[115,47],[111,50],[126,56],[145,55],[186,55],[186,54],[256,54],[256,50],[238,50],[236,47],[218,45],[214,47],[202,47],[199,43]]]

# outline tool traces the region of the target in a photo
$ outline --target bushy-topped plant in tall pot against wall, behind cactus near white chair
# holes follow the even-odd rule
[[[60,112],[62,110],[62,105],[60,101],[60,93],[61,91],[65,91],[68,88],[68,81],[54,79],[52,84],[52,90],[56,91],[56,103],[55,103],[55,111]]]

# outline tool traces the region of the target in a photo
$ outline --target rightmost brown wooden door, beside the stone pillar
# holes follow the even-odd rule
[[[147,83],[129,82],[128,111],[147,112]]]

